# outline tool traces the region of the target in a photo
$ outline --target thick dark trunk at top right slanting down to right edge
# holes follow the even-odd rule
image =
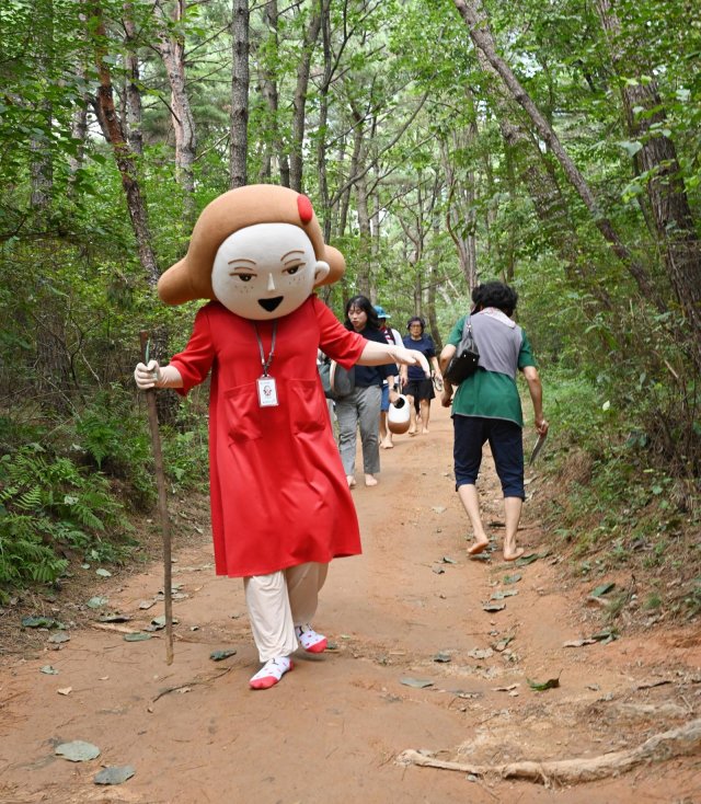
[[[621,22],[610,0],[597,0],[601,25],[610,37],[613,48],[613,66],[621,68],[621,55],[617,44],[621,38]],[[617,42],[618,41],[618,42]],[[631,43],[632,44],[632,43]],[[625,62],[627,74],[631,73],[630,62]],[[637,78],[644,70],[635,65]],[[653,126],[666,119],[656,81],[636,84],[621,82],[621,95],[628,128],[632,138],[642,140],[642,148],[635,154],[637,164],[648,179],[647,197],[657,237],[664,248],[665,267],[675,295],[689,320],[694,340],[694,353],[701,367],[701,249],[693,216],[677,159],[675,143],[669,137],[658,134]],[[645,116],[636,114],[635,108],[654,113]]]

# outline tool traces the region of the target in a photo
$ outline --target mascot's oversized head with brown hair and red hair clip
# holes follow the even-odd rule
[[[217,299],[257,321],[296,310],[345,269],[307,196],[274,184],[230,189],[199,216],[187,255],[158,283],[166,305]]]

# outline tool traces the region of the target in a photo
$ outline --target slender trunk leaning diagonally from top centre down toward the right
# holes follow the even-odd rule
[[[666,310],[666,305],[657,292],[657,289],[653,286],[647,272],[643,265],[633,257],[629,249],[620,239],[611,221],[604,215],[591,188],[578,168],[572,161],[570,154],[563,148],[562,142],[552,129],[552,126],[550,126],[548,120],[545,120],[542,114],[538,111],[538,107],[531,100],[528,92],[526,92],[521,87],[509,66],[496,53],[494,36],[489,25],[489,19],[482,8],[481,0],[453,0],[453,3],[470,31],[470,37],[472,38],[474,46],[485,55],[489,62],[499,74],[514,99],[526,111],[532,120],[539,136],[555,154],[565,172],[565,175],[589,210],[595,226],[601,232],[605,240],[610,244],[611,251],[613,251],[616,256],[633,276],[642,296],[653,300],[658,310]]]

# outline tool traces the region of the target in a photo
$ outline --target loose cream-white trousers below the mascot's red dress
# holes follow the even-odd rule
[[[310,562],[243,578],[261,662],[289,656],[297,650],[295,625],[307,625],[313,619],[327,571],[329,564]]]

